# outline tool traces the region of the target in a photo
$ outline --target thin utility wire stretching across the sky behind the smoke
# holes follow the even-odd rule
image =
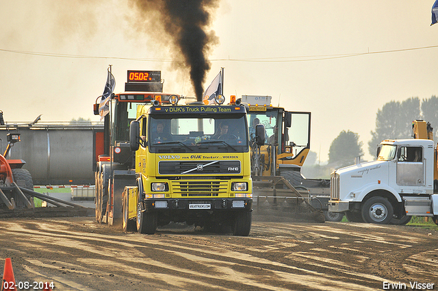
[[[365,53],[345,53],[345,54],[333,54],[333,55],[302,55],[302,56],[289,56],[289,57],[268,57],[268,58],[227,58],[227,59],[210,59],[210,62],[309,62],[318,60],[333,60],[339,58],[351,58],[359,55],[376,55],[380,53],[398,53],[402,51],[416,51],[419,49],[435,49],[438,45],[432,45],[428,47],[413,47],[409,49],[393,49],[388,51],[367,51]],[[183,60],[172,59],[149,59],[149,58],[122,58],[122,57],[103,57],[96,55],[68,55],[64,53],[40,53],[35,51],[16,51],[12,49],[0,49],[0,51],[8,53],[20,53],[24,55],[39,55],[52,58],[79,58],[79,59],[109,59],[109,60],[133,60],[140,62],[183,62]]]

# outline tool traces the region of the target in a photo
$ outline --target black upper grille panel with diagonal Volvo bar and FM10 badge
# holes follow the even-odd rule
[[[239,160],[234,161],[160,161],[160,175],[240,174]]]

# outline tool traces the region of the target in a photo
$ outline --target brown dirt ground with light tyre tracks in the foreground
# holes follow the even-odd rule
[[[10,257],[17,283],[55,290],[438,290],[436,227],[269,220],[254,217],[250,236],[236,237],[193,227],[123,233],[92,217],[5,218],[0,264]]]

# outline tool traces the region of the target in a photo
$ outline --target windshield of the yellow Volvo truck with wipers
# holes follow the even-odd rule
[[[248,127],[243,114],[160,117],[151,116],[149,119],[147,140],[151,153],[248,151]]]

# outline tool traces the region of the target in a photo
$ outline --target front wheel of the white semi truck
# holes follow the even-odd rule
[[[388,199],[372,197],[363,203],[362,218],[366,223],[387,225],[394,215],[394,207]]]

